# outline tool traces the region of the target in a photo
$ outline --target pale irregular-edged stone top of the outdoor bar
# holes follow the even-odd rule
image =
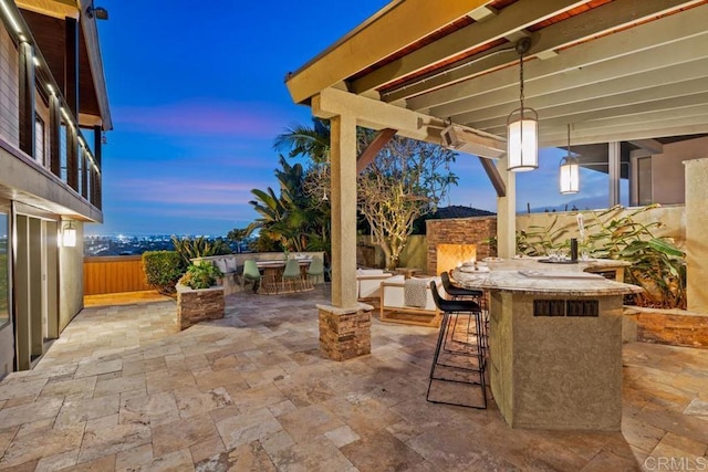
[[[543,263],[540,258],[481,262],[455,269],[452,277],[461,286],[563,296],[605,296],[641,292],[636,285],[611,281],[591,271],[614,271],[629,265],[624,261],[591,260],[577,263]]]

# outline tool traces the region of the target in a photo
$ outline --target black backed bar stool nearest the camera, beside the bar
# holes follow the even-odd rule
[[[430,381],[426,400],[433,403],[455,405],[459,407],[487,408],[487,380],[485,340],[482,328],[482,313],[479,304],[470,300],[444,300],[435,281],[430,282],[433,300],[440,312],[442,312],[442,323],[438,334],[438,342],[430,366]],[[470,325],[473,319],[475,332],[466,329],[462,340],[455,338],[457,318],[469,316]],[[449,339],[448,339],[449,338]],[[445,348],[444,346],[448,346]],[[459,397],[446,399],[431,399],[430,390],[434,381],[468,384],[481,389],[482,406],[468,405],[457,400]]]

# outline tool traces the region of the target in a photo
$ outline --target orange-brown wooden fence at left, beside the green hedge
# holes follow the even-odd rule
[[[84,258],[84,295],[153,290],[140,255]]]

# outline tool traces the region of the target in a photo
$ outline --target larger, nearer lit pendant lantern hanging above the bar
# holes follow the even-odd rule
[[[517,42],[519,54],[519,101],[521,106],[507,117],[507,157],[508,170],[521,172],[539,167],[539,114],[523,106],[523,54],[531,48],[531,39],[522,38]]]

